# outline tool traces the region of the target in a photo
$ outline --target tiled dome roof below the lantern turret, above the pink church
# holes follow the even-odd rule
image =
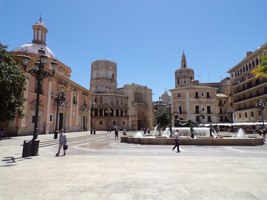
[[[36,54],[39,55],[38,50],[43,48],[45,50],[45,54],[48,58],[51,58],[53,60],[57,60],[55,54],[44,44],[39,44],[39,43],[28,43],[28,44],[23,44],[14,50],[12,52],[24,52],[24,53],[31,53],[31,54]]]

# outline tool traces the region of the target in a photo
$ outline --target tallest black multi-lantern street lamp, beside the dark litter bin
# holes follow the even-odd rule
[[[45,55],[45,50],[43,48],[38,50],[40,60],[39,62],[35,63],[35,68],[27,71],[27,66],[30,61],[30,57],[27,55],[23,55],[23,65],[24,71],[33,75],[37,81],[37,95],[36,95],[36,108],[35,108],[35,118],[34,118],[34,133],[33,139],[31,143],[31,156],[38,156],[38,148],[39,148],[39,140],[38,137],[38,115],[39,115],[39,100],[40,100],[40,93],[41,93],[41,82],[43,79],[47,77],[52,77],[55,74],[57,63],[55,61],[51,62],[52,74],[50,72],[45,71],[44,67],[47,61],[47,56]]]

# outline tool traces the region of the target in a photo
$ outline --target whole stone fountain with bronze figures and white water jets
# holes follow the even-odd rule
[[[181,122],[183,124],[181,124]],[[155,126],[152,135],[144,136],[142,135],[142,132],[136,132],[133,135],[121,136],[121,142],[141,144],[141,145],[174,145],[175,144],[174,138],[170,137],[172,135],[171,130],[176,131],[176,129],[178,129],[179,135],[180,135],[180,145],[256,146],[256,145],[264,144],[263,138],[261,137],[249,138],[242,129],[239,129],[238,133],[234,134],[230,138],[227,138],[227,137],[223,138],[222,136],[219,136],[217,134],[217,131],[219,131],[219,128],[216,128],[217,130],[216,131],[213,128],[213,126],[196,127],[194,126],[194,122],[192,122],[191,120],[188,120],[187,122],[180,120],[179,123],[182,126],[174,127],[174,128],[171,128],[171,126],[169,126],[166,128],[165,131],[161,132],[160,136],[155,136],[157,132],[157,127],[159,126],[158,124]],[[185,124],[187,127],[185,127]]]

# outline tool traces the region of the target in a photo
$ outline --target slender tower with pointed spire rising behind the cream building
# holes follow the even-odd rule
[[[194,70],[187,68],[184,51],[182,51],[181,68],[175,71],[175,87],[188,85],[194,80]]]

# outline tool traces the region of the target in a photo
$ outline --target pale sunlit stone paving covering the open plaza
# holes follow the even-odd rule
[[[59,157],[58,145],[51,145],[21,158],[21,145],[32,136],[0,140],[0,200],[267,199],[266,145],[180,146],[177,153],[172,146],[121,143],[113,132],[102,133],[66,133],[68,139],[89,138],[69,142]],[[53,134],[38,138],[55,141]]]

